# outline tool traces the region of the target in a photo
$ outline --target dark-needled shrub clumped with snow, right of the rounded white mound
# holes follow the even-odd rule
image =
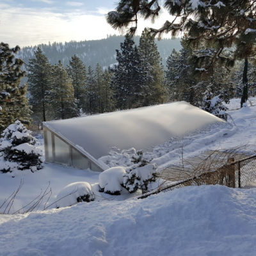
[[[129,168],[124,174],[124,186],[130,193],[137,189],[148,189],[149,182],[157,179],[156,164],[145,164],[137,168]]]

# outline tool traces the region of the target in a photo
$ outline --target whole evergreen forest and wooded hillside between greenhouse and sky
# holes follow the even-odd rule
[[[132,4],[136,3],[131,1],[126,11],[127,2],[120,1],[120,9],[108,13],[107,20],[115,29],[129,24],[131,8],[136,8]],[[154,4],[140,6],[138,1],[140,8],[132,15],[141,12],[145,19],[153,19],[159,12],[157,1],[153,2],[156,10]],[[186,11],[194,12],[191,5],[187,7]],[[218,6],[209,7],[215,19],[224,22],[223,29],[234,22],[227,8],[221,10],[231,16],[219,17]],[[187,31],[182,39],[157,41],[156,35],[161,38],[164,32],[178,33],[177,26],[166,23],[158,30],[144,29],[141,36],[134,36],[136,27],[132,27],[125,36],[95,41],[54,42],[23,49],[1,43],[1,131],[18,119],[42,128],[42,122],[49,120],[180,100],[227,120],[223,102],[241,97],[242,108],[248,97],[256,94],[255,29],[248,28],[250,12],[246,17],[239,12],[241,26],[227,31],[228,40],[220,38],[218,26],[204,24],[204,9],[196,9],[202,12],[196,26],[191,20],[180,23]],[[124,17],[120,19],[120,15]],[[22,79],[27,83],[21,83]]]

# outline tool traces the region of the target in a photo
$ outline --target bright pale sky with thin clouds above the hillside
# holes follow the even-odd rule
[[[0,40],[10,46],[97,40],[120,34],[105,16],[115,9],[112,0],[0,0]],[[154,28],[168,19],[163,13]],[[150,22],[140,20],[138,35]]]

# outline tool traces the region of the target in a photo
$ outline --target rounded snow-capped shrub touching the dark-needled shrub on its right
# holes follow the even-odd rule
[[[111,167],[108,170],[100,173],[100,192],[110,195],[120,195],[124,183],[123,175],[125,173],[125,167],[122,166]]]

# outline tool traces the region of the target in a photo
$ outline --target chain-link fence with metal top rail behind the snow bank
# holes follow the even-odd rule
[[[230,188],[243,188],[256,182],[256,156],[250,156],[232,163],[225,164],[212,172],[204,172],[196,177],[175,182],[175,184],[163,184],[154,191],[145,193],[138,198],[147,198],[159,192],[172,191],[186,186],[224,185]]]

